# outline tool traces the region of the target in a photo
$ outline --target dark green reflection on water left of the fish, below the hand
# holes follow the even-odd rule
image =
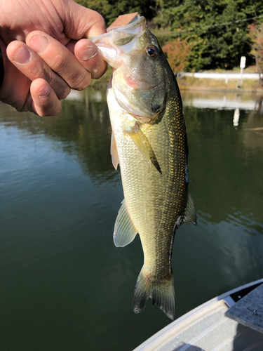
[[[62,102],[62,112],[56,117],[18,114],[8,105],[1,105],[2,126],[15,126],[29,135],[45,135],[53,147],[76,157],[83,172],[98,183],[119,180],[112,167],[109,153],[111,126],[106,102],[106,90],[72,91]],[[60,143],[56,143],[60,141]]]

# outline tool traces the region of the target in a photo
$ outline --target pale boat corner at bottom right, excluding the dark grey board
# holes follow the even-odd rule
[[[255,283],[258,282],[262,280]],[[260,289],[262,287],[263,284]],[[263,333],[225,315],[229,310],[226,301],[229,303],[230,294],[236,291],[214,298],[184,314],[134,351],[263,351]],[[232,302],[231,305],[238,305]]]

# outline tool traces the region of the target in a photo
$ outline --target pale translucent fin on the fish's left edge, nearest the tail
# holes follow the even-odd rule
[[[123,247],[130,244],[136,237],[137,232],[128,214],[125,200],[123,200],[114,225],[113,241],[115,246]]]

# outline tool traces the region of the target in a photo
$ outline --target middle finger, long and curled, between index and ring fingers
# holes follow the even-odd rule
[[[28,34],[26,43],[38,53],[48,67],[67,81],[71,88],[83,90],[90,84],[90,72],[76,60],[73,53],[53,37],[34,31]]]

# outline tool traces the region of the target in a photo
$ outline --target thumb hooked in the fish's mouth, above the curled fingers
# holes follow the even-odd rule
[[[105,22],[96,11],[76,4],[73,0],[63,1],[64,32],[70,39],[92,38],[106,32]]]

